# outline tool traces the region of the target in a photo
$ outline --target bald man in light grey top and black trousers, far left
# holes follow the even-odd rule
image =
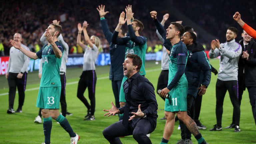
[[[22,42],[22,35],[20,33],[15,33],[13,36],[13,40],[16,42]],[[29,50],[29,48],[24,44],[21,44],[21,47]],[[5,74],[9,85],[9,109],[7,110],[8,114],[22,112],[22,106],[25,99],[25,89],[28,73],[27,67],[29,65],[29,60],[30,58],[23,54],[20,50],[11,47],[7,72]],[[19,92],[19,106],[18,109],[14,111],[13,104],[16,94],[16,87],[18,88]]]

